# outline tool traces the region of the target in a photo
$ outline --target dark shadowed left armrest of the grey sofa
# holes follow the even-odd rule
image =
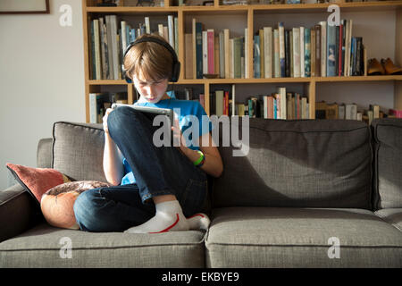
[[[38,203],[21,185],[0,190],[0,242],[27,231],[41,218]]]

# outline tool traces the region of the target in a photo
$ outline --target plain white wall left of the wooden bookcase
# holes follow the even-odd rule
[[[63,4],[71,27],[59,23]],[[13,183],[7,162],[36,166],[54,122],[85,122],[83,50],[79,0],[50,1],[50,14],[0,15],[0,189]]]

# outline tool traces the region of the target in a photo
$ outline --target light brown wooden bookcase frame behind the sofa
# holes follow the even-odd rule
[[[296,84],[304,88],[308,97],[309,103],[309,115],[310,118],[315,116],[315,101],[316,101],[316,89],[317,84],[319,86],[328,86],[331,83],[356,82],[361,84],[368,82],[385,82],[387,85],[393,85],[394,92],[394,105],[395,109],[402,109],[402,75],[384,75],[384,76],[351,76],[351,77],[309,77],[309,78],[263,78],[254,79],[254,65],[253,65],[253,35],[258,29],[264,26],[264,19],[268,19],[271,16],[280,17],[281,15],[294,14],[290,18],[298,19],[309,17],[309,13],[322,13],[328,14],[327,9],[332,3],[326,4],[254,4],[254,5],[220,5],[218,0],[214,0],[213,6],[173,6],[172,1],[165,0],[164,7],[138,7],[138,6],[118,6],[118,7],[98,7],[96,3],[98,0],[83,0],[83,32],[84,32],[84,67],[85,67],[85,97],[86,97],[86,111],[87,122],[89,122],[89,93],[97,92],[107,88],[120,88],[127,91],[129,103],[133,103],[135,97],[135,90],[132,84],[126,83],[125,80],[92,80],[91,77],[91,21],[96,17],[102,17],[105,15],[115,14],[118,18],[126,21],[137,21],[144,17],[150,16],[151,21],[153,17],[161,19],[167,15],[174,15],[178,18],[178,41],[179,41],[179,53],[178,58],[182,66],[180,72],[180,80],[175,83],[175,86],[197,85],[203,88],[205,93],[205,111],[209,114],[209,101],[210,90],[214,90],[215,86],[219,85],[250,85],[250,92],[254,86],[261,86],[262,84],[277,86],[279,84],[286,86],[287,84]],[[121,4],[124,4],[124,0],[121,0]],[[378,1],[378,2],[353,2],[353,3],[335,3],[340,8],[340,13],[364,13],[364,12],[388,12],[394,13],[395,16],[395,38],[392,39],[392,43],[395,40],[395,62],[397,65],[402,64],[402,0],[398,1]],[[217,16],[222,15],[220,22]],[[266,17],[265,17],[266,15]],[[278,16],[280,15],[280,16]],[[159,17],[159,18],[158,18]],[[289,16],[286,16],[289,17]],[[185,33],[191,33],[190,21],[192,18],[201,19],[201,21],[207,22],[206,28],[215,28],[216,30],[230,29],[230,38],[233,36],[232,26],[241,26],[234,29],[235,36],[245,36],[244,28],[247,28],[247,46],[245,53],[248,57],[247,69],[248,74],[245,74],[245,78],[242,79],[186,79],[186,56],[185,56]],[[131,19],[131,20],[130,20]],[[229,21],[226,22],[226,19]],[[341,15],[341,19],[342,15]],[[276,21],[276,20],[275,20]],[[282,20],[281,20],[282,21]],[[285,23],[289,21],[289,18],[283,19]],[[377,25],[381,25],[379,19],[373,19]],[[303,20],[297,23],[297,25],[303,25]],[[244,27],[243,27],[244,26]],[[222,28],[225,27],[225,28]],[[215,36],[218,34],[216,33]],[[375,37],[375,36],[373,36]],[[377,46],[381,46],[381,43],[376,43]],[[369,46],[371,48],[371,46]],[[388,83],[387,83],[388,82]],[[213,87],[214,85],[214,87]],[[117,87],[113,87],[117,86]],[[248,87],[247,87],[248,88]],[[364,90],[362,91],[364,93]],[[353,101],[351,99],[351,101]]]

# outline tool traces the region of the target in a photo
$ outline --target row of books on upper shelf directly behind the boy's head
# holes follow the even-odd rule
[[[157,27],[157,30],[156,30]],[[143,34],[158,34],[179,53],[178,18],[168,15],[165,23],[151,23],[145,17],[138,28],[116,15],[94,19],[90,25],[90,76],[92,80],[121,80],[122,55],[127,46]]]

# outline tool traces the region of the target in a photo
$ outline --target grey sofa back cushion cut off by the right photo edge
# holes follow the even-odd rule
[[[374,139],[375,209],[402,207],[402,119],[376,119]]]

